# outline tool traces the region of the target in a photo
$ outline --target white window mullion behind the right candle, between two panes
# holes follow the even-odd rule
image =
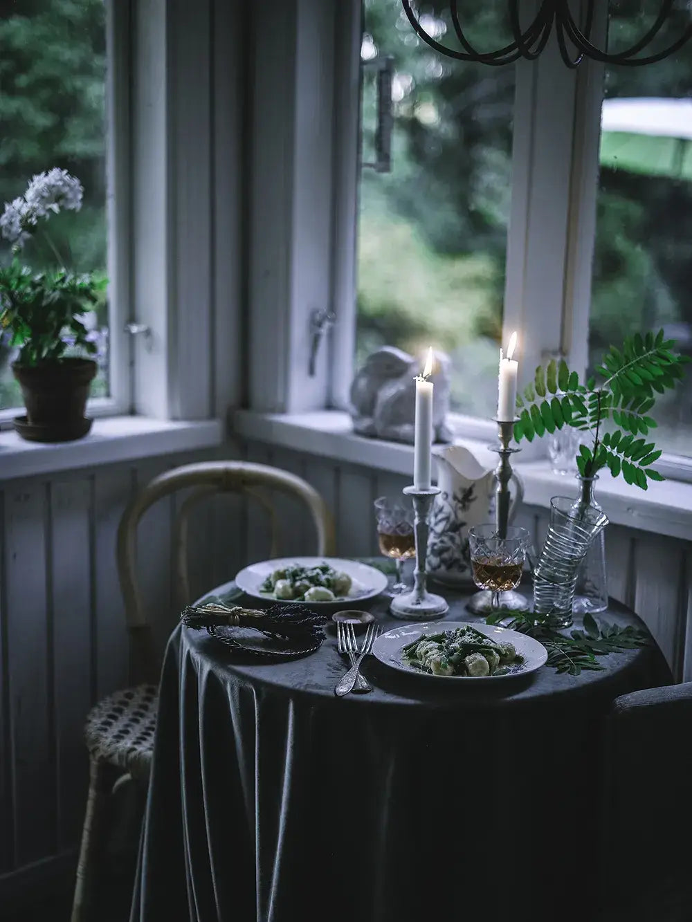
[[[504,339],[519,330],[524,381],[558,353],[586,365],[602,74],[567,68],[555,36],[517,65]]]

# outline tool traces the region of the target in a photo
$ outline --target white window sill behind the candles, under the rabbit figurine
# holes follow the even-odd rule
[[[238,435],[258,442],[281,445],[308,455],[319,455],[376,470],[411,475],[411,445],[380,442],[355,435],[348,413],[320,410],[312,413],[270,414],[238,410],[233,414]],[[488,440],[457,437],[455,443],[471,450]],[[548,508],[550,498],[575,492],[574,482],[554,474],[544,460],[515,462],[524,482],[524,502]],[[677,480],[650,483],[648,491],[629,487],[624,480],[602,472],[598,498],[611,522],[656,532],[672,538],[692,539],[692,484]]]

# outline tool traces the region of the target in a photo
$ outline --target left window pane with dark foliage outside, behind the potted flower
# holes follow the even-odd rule
[[[103,0],[0,0],[0,203],[22,195],[34,173],[63,167],[84,186],[78,212],[42,228],[61,262],[78,272],[106,270],[105,7]],[[57,256],[40,233],[22,260],[41,269]],[[11,258],[0,240],[0,260]],[[99,344],[92,396],[108,394],[105,300],[89,316]],[[0,337],[0,408],[22,403],[9,363],[17,349]]]

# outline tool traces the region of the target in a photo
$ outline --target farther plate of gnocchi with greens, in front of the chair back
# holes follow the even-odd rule
[[[337,557],[280,557],[251,563],[237,574],[235,585],[253,598],[333,609],[378,596],[387,588],[387,576]]]

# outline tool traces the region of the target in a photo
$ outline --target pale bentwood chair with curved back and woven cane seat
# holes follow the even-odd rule
[[[175,597],[179,609],[192,601],[187,569],[189,514],[197,502],[211,493],[242,493],[266,509],[271,533],[270,557],[278,555],[278,523],[269,491],[288,493],[307,507],[316,528],[317,555],[334,553],[334,527],[325,502],[304,479],[276,467],[244,461],[209,461],[176,467],[151,480],[129,503],[118,528],[117,565],[125,599],[131,687],[104,698],[87,717],[89,796],[72,922],[90,922],[95,917],[92,913],[108,832],[109,796],[127,781],[146,786],[149,779],[158,708],[159,660],[137,587],[137,524],[154,502],[190,488],[193,489],[181,503],[173,526]]]

